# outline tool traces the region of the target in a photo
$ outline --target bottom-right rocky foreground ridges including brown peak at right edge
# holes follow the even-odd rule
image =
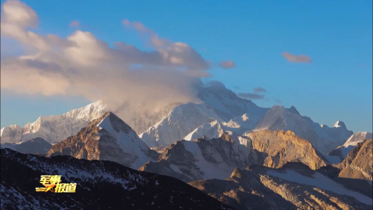
[[[224,180],[189,184],[239,210],[372,209],[372,142],[358,143],[342,163],[318,170],[299,162],[279,169],[251,165]]]

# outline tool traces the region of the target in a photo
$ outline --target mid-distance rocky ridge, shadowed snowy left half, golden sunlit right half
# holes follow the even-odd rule
[[[233,169],[251,164],[279,168],[288,162],[319,169],[327,161],[310,142],[294,132],[265,130],[252,132],[248,137],[223,132],[219,138],[178,141],[166,148],[157,162],[145,163],[139,170],[188,182],[225,179]]]

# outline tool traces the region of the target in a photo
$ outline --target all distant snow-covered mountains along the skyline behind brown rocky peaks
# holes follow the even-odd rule
[[[168,146],[176,141],[193,138],[217,138],[222,131],[243,136],[258,130],[291,130],[296,135],[308,140],[322,154],[343,145],[353,134],[342,121],[337,121],[333,127],[315,123],[309,117],[300,115],[297,109],[273,106],[261,108],[252,101],[238,97],[221,83],[213,83],[209,87],[199,87],[197,97],[199,104],[172,104],[171,110],[163,118],[164,111],[147,114],[151,121],[160,120],[139,137],[150,147]],[[127,106],[123,106],[127,110]],[[17,125],[1,129],[1,143],[16,143],[40,137],[50,143],[58,143],[69,136],[75,135],[87,124],[104,114],[107,106],[98,101],[79,109],[73,109],[62,115],[40,117],[34,123],[28,123],[23,128]],[[166,109],[165,109],[166,110]],[[118,112],[121,109],[117,110]],[[114,111],[115,113],[115,111]],[[137,112],[135,112],[137,113]],[[158,113],[158,114],[157,114]],[[135,117],[136,118],[136,115]],[[137,125],[134,131],[144,130],[144,114],[139,114],[139,120],[134,123],[130,119],[129,126]],[[136,121],[136,120],[135,120]],[[141,122],[140,122],[141,121]],[[211,123],[216,121],[214,125]],[[142,126],[139,126],[139,125]],[[210,125],[208,125],[210,124]],[[139,129],[142,127],[142,129]],[[196,130],[197,129],[197,130]],[[194,134],[193,134],[194,133]]]

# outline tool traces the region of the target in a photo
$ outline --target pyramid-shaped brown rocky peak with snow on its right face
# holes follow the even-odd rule
[[[112,112],[106,112],[76,135],[53,145],[47,154],[110,160],[134,169],[157,157],[156,152],[149,149],[131,127]]]

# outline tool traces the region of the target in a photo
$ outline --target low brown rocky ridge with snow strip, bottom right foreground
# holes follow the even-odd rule
[[[300,163],[282,169],[250,166],[235,169],[225,180],[199,180],[190,185],[235,209],[372,209],[372,198]]]

